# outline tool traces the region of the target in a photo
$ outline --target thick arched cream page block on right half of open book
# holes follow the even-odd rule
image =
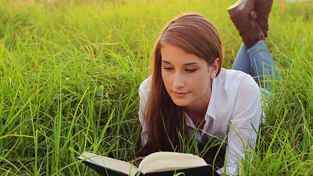
[[[148,172],[175,170],[205,165],[207,165],[207,163],[204,159],[197,155],[175,152],[156,152],[146,156],[141,161],[139,170],[145,174]]]

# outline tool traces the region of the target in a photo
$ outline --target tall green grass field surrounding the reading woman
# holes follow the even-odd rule
[[[158,32],[199,12],[218,27],[230,68],[241,44],[226,11],[233,2],[1,0],[0,175],[96,175],[75,159],[84,151],[130,161],[140,147],[137,90]],[[313,176],[312,4],[274,1],[266,44],[282,88],[243,176]]]

